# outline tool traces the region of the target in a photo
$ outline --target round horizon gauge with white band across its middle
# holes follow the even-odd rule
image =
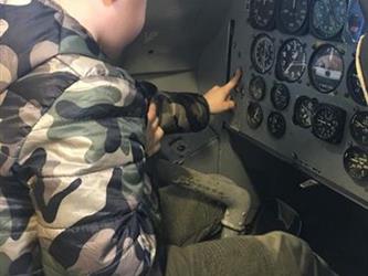
[[[311,81],[322,93],[335,91],[344,76],[344,60],[333,45],[319,47],[311,60]]]

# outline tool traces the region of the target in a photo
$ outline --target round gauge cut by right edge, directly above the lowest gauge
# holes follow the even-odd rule
[[[359,112],[353,116],[350,134],[358,144],[368,146],[368,112]]]

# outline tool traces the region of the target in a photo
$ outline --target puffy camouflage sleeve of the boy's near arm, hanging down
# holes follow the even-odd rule
[[[28,136],[19,174],[32,171],[28,185],[45,275],[141,275],[151,266],[145,115],[134,85],[86,78]]]

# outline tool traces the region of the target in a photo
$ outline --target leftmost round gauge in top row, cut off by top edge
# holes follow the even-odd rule
[[[274,26],[276,0],[251,0],[250,23],[255,29]]]

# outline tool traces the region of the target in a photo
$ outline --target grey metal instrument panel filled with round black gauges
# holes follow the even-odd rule
[[[251,1],[238,1],[234,3],[230,17],[235,21],[232,45],[230,45],[232,51],[231,72],[234,72],[238,67],[242,67],[244,78],[242,79],[241,86],[233,94],[238,107],[230,126],[276,157],[294,163],[297,168],[307,172],[319,182],[327,184],[335,191],[368,208],[368,180],[365,178],[368,166],[366,167],[367,160],[364,159],[365,156],[362,155],[361,159],[353,158],[349,160],[348,163],[353,163],[353,176],[349,176],[346,170],[347,162],[344,160],[344,158],[351,157],[351,155],[346,155],[348,149],[351,151],[351,147],[353,149],[354,147],[358,147],[364,151],[367,150],[365,145],[357,142],[357,139],[353,137],[350,130],[350,121],[355,114],[357,112],[368,110],[366,105],[355,99],[356,95],[350,94],[354,92],[351,92],[351,85],[348,85],[348,81],[351,81],[348,78],[351,75],[351,73],[349,74],[349,67],[353,66],[351,64],[354,63],[356,36],[358,35],[349,32],[361,32],[364,26],[356,24],[362,24],[365,22],[364,18],[354,18],[357,15],[357,7],[353,7],[355,1],[356,0],[347,2],[349,7],[347,13],[349,15],[347,15],[343,30],[337,36],[328,40],[318,39],[313,32],[311,24],[308,24],[303,32],[299,32],[299,34],[286,34],[283,29],[277,28],[280,25],[277,23],[277,20],[280,20],[277,15],[275,18],[274,28],[256,29],[254,28],[254,23],[252,23],[254,20],[250,19],[252,15]],[[311,7],[308,11],[309,21],[312,17]],[[353,11],[350,12],[350,10]],[[263,13],[265,12],[263,11]],[[356,21],[353,22],[351,18]],[[257,21],[260,20],[261,19],[257,18]],[[273,24],[269,22],[267,25],[271,26]],[[252,52],[254,51],[254,40],[260,38],[267,38],[267,49],[272,49],[269,45],[269,38],[273,41],[276,53],[275,59],[280,56],[284,59],[284,66],[277,65],[277,61],[263,61],[264,56],[260,55],[270,55],[270,53],[266,53],[266,49],[260,47],[260,53]],[[293,40],[298,41],[303,45],[306,54],[305,65],[307,70],[302,73],[297,68],[297,66],[301,65],[297,64],[297,62],[303,62],[302,53],[297,56],[296,50],[293,52],[293,46],[285,47],[291,51],[290,54],[280,52],[287,41]],[[297,46],[298,45],[294,45],[295,49],[297,49]],[[322,47],[328,46],[330,49],[326,51],[320,50]],[[334,54],[335,50],[338,52]],[[318,51],[328,53],[319,60],[314,59]],[[278,57],[277,54],[280,55]],[[260,70],[260,63],[256,64],[257,66],[254,66],[255,57],[267,65],[266,70]],[[293,59],[295,60],[294,64],[292,63]],[[318,60],[316,65],[313,64],[314,60]],[[287,64],[287,62],[290,64]],[[325,62],[330,64],[325,64]],[[271,68],[269,68],[269,66],[271,66],[270,64],[272,64]],[[291,73],[292,67],[295,67],[294,73]],[[286,77],[280,77],[281,68],[284,70],[284,74],[282,75],[286,75]],[[250,87],[252,87],[252,82],[254,84],[254,78],[257,77],[263,78],[266,88],[265,92],[262,92],[264,94],[262,97],[255,98],[254,93],[250,93]],[[322,77],[320,86],[314,83],[316,79],[318,82],[318,77]],[[275,108],[275,95],[272,91],[275,89],[274,86],[278,85],[286,86],[290,96],[287,97],[287,106],[277,109]],[[322,88],[317,89],[318,87]],[[323,89],[323,87],[329,87],[329,89]],[[255,93],[255,95],[259,94]],[[315,124],[316,126],[302,127],[295,123],[294,107],[299,97],[308,97],[311,100],[316,102],[318,108],[322,109],[318,109],[318,116],[316,118],[314,117],[315,112],[311,115],[311,124]],[[285,102],[285,98],[281,98],[281,103],[282,102]],[[256,116],[260,114],[260,112],[257,113],[255,110],[254,106],[261,106],[263,117],[262,123],[256,127],[254,127],[254,124],[250,124],[250,121],[254,123],[259,119],[252,117],[254,114]],[[333,107],[333,110],[329,107]],[[251,110],[251,118],[249,118],[249,110]],[[273,121],[273,124],[275,124],[282,121],[280,115],[277,115],[278,120],[267,120],[269,116],[274,117],[275,113],[282,115],[286,126],[283,126],[284,123],[282,125],[267,126],[267,123],[272,124]],[[301,116],[307,116],[307,112]],[[336,118],[339,121],[336,123],[334,120]],[[359,124],[360,123],[358,123],[358,126],[361,125],[362,128],[367,128],[364,124]],[[285,127],[285,129],[282,130],[284,134],[278,131],[280,135],[273,135],[270,129],[274,129],[275,127],[278,127],[278,129]],[[365,134],[366,131],[366,129],[360,130],[358,132]],[[316,136],[318,131],[323,132]],[[335,134],[335,139],[333,139],[334,131],[339,131]],[[329,136],[333,138],[327,139]],[[326,137],[325,140],[322,139],[324,137]],[[348,153],[350,153],[350,151],[348,151]],[[359,170],[361,170],[362,181],[357,181],[355,178],[356,174],[360,176]]]

